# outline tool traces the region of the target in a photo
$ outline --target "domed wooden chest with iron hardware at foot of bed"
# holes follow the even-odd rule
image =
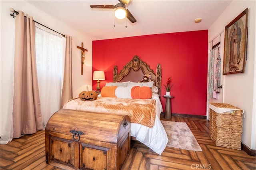
[[[61,109],[45,130],[46,163],[62,169],[119,170],[130,151],[125,115]]]

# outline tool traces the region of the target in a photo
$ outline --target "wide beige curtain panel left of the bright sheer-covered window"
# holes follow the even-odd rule
[[[13,138],[42,129],[35,35],[33,18],[20,11],[15,20]]]

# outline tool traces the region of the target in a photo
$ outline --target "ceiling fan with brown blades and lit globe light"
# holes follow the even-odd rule
[[[128,20],[130,20],[130,22],[134,23],[137,20],[134,18],[134,16],[132,16],[132,14],[130,13],[130,11],[128,9],[126,9],[126,4],[128,4],[130,2],[130,0],[118,0],[119,3],[116,5],[90,5],[91,8],[116,8],[115,10],[115,16],[118,19],[123,19],[123,18],[128,18]]]

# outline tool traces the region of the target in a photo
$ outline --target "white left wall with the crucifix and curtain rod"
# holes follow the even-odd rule
[[[14,26],[15,19],[10,16],[9,8],[21,10],[29,16],[33,16],[37,22],[48,26],[62,34],[72,36],[72,71],[73,71],[73,97],[78,97],[81,91],[86,90],[88,85],[89,90],[92,90],[92,40],[81,32],[73,30],[70,26],[62,23],[48,14],[35,8],[26,1],[0,1],[1,9],[1,104],[0,104],[0,136],[1,143],[9,138],[7,135],[11,129],[12,123],[12,93],[13,93],[13,63],[14,63]],[[83,17],[81,17],[83,18]],[[81,46],[84,43],[86,59],[84,61],[84,72],[81,75],[81,51],[76,48],[76,45]]]

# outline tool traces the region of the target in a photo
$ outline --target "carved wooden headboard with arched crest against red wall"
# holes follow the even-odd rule
[[[158,87],[158,95],[161,97],[161,80],[162,80],[162,68],[161,64],[158,63],[156,67],[156,73],[150,66],[142,61],[137,55],[133,59],[124,65],[124,68],[118,74],[117,66],[114,66],[113,70],[113,82],[124,82],[124,81],[141,81],[145,74],[151,75],[151,80],[154,81],[154,85]]]

